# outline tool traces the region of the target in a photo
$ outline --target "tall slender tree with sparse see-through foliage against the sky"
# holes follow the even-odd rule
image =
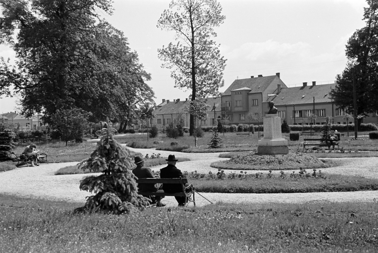
[[[169,43],[158,50],[163,67],[172,69],[175,87],[192,90],[191,100],[197,96],[217,96],[224,85],[222,71],[226,60],[211,37],[215,26],[225,16],[216,0],[173,0],[158,20],[158,28],[174,31],[177,43]],[[194,115],[190,116],[190,135],[194,133]]]

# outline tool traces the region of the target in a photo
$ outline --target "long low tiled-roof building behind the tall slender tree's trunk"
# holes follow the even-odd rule
[[[221,98],[205,98],[206,104],[209,105],[208,120],[199,122],[202,126],[212,126],[216,124],[215,120],[221,118]],[[174,99],[172,102],[163,99],[163,105],[158,105],[158,108],[154,111],[156,118],[150,120],[152,126],[165,126],[170,123],[177,122],[179,118],[183,119],[184,126],[189,127],[190,115],[186,112],[186,107],[189,107],[190,100],[180,101],[180,99]],[[214,110],[215,105],[215,110]]]

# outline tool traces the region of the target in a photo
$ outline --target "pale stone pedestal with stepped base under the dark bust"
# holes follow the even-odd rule
[[[259,140],[259,155],[288,154],[288,141],[282,138],[281,118],[278,114],[266,114],[264,117],[264,138]]]

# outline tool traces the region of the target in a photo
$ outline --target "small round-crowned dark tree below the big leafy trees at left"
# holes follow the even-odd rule
[[[57,110],[51,116],[51,126],[59,131],[61,139],[68,141],[82,140],[84,133],[90,129],[88,113],[81,109]]]

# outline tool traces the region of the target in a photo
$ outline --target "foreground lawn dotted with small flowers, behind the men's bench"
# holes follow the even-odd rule
[[[216,203],[123,215],[0,195],[2,252],[375,252],[376,202]]]

